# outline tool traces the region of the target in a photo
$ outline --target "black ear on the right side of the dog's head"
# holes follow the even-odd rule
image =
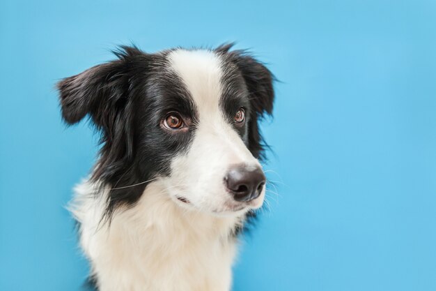
[[[244,50],[231,50],[233,44],[217,47],[216,51],[235,64],[249,91],[251,102],[251,119],[249,121],[249,150],[256,158],[265,158],[263,150],[265,143],[258,127],[258,119],[272,114],[274,103],[274,76],[260,61],[251,57]]]

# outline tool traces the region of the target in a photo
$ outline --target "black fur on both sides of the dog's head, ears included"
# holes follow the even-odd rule
[[[228,74],[221,106],[229,118],[240,106],[247,108],[247,125],[238,130],[251,153],[263,158],[258,119],[272,112],[273,77],[247,52],[231,47],[215,50],[225,60]],[[92,179],[112,188],[106,211],[109,221],[118,206],[132,206],[139,200],[146,181],[171,174],[171,158],[187,151],[196,130],[190,126],[187,134],[172,135],[159,126],[169,110],[196,121],[189,92],[176,74],[166,70],[169,52],[147,54],[137,47],[120,47],[114,52],[115,61],[58,84],[64,121],[75,124],[88,116],[101,133],[102,148]]]

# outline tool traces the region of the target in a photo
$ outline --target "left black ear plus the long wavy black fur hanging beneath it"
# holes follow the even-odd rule
[[[120,47],[115,61],[95,66],[57,84],[63,119],[75,124],[88,116],[101,134],[100,157],[92,179],[115,187],[108,196],[107,217],[121,202],[136,201],[146,184],[137,183],[134,117],[138,99],[146,95],[150,55],[136,47]],[[129,187],[127,187],[129,186]]]

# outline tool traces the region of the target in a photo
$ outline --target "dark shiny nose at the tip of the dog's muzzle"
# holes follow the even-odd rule
[[[238,165],[224,177],[228,191],[236,201],[250,201],[259,197],[265,185],[265,174],[260,167]]]

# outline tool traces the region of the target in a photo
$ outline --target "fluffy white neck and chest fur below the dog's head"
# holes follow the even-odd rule
[[[77,187],[72,212],[81,246],[100,291],[228,291],[241,217],[217,217],[183,209],[159,182],[152,182],[134,207],[118,209],[101,225],[106,197]]]

